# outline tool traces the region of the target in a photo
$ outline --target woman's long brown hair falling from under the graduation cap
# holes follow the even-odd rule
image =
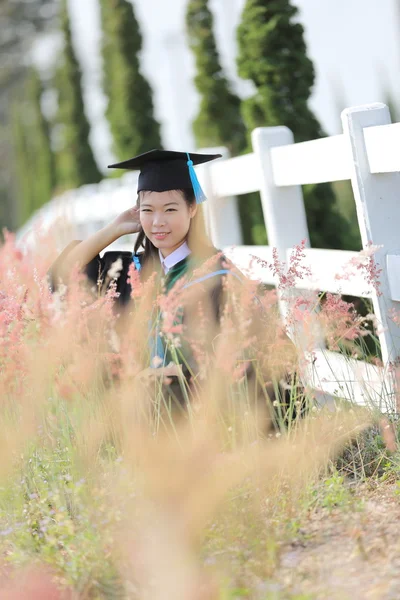
[[[192,189],[184,188],[176,191],[182,194],[188,206],[193,206],[194,204],[196,204],[196,198]],[[138,194],[138,206],[140,206],[140,200],[142,197],[141,194],[142,192],[139,192]],[[198,259],[205,260],[218,252],[207,236],[203,209],[201,205],[197,206],[196,214],[191,219],[189,232],[187,236],[187,244],[192,252],[192,255]],[[138,236],[136,238],[134,253],[137,254],[141,248],[143,248],[144,250],[144,252],[142,253],[142,265],[154,261],[154,265],[152,266],[155,268],[155,265],[159,263],[158,249],[146,237],[143,229],[138,233]]]

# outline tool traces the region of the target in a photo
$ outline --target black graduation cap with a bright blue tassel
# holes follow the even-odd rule
[[[109,165],[109,169],[140,171],[138,192],[167,192],[193,188],[196,202],[207,200],[197,178],[194,165],[201,165],[221,154],[195,154],[171,150],[150,150],[129,160]]]

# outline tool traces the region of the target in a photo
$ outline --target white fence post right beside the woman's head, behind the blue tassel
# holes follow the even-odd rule
[[[199,152],[203,154],[222,154],[222,159],[230,158],[229,150],[224,147],[202,148]],[[227,246],[241,246],[243,238],[237,197],[215,197],[211,177],[212,163],[199,165],[197,169],[199,179],[208,198],[207,202],[204,203],[204,216],[213,244],[220,250]]]

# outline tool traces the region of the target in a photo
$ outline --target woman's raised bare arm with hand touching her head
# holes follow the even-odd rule
[[[86,240],[73,246],[65,258],[57,260],[52,268],[52,276],[56,280],[68,281],[72,269],[83,269],[107,246],[123,235],[140,231],[139,210],[130,208],[119,215],[112,223],[106,225]]]

